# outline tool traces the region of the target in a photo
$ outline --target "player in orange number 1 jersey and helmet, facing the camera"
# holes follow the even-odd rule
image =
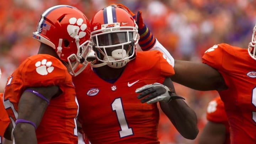
[[[90,142],[159,144],[158,101],[183,137],[196,138],[196,114],[166,79],[174,74],[169,60],[159,51],[136,52],[139,35],[133,17],[119,7],[108,6],[92,18],[91,30],[96,60],[73,77],[78,120]],[[143,91],[137,88],[154,82],[158,83],[150,85],[150,90],[162,95],[143,98],[142,93],[139,100],[135,90]]]

